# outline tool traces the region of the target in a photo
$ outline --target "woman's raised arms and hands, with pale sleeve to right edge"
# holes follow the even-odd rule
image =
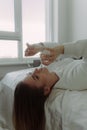
[[[45,53],[47,51],[49,51],[49,53]],[[32,56],[38,52],[42,52],[41,59],[44,65],[52,63],[60,54],[66,54],[76,58],[81,56],[87,57],[87,39],[62,45],[58,45],[56,42],[42,42],[33,45],[27,44],[25,56]]]

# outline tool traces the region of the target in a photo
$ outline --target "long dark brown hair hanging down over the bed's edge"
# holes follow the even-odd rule
[[[14,92],[13,124],[15,130],[44,130],[46,100],[42,88],[18,83]]]

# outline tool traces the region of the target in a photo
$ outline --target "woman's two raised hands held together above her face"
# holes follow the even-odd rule
[[[41,52],[41,59],[44,65],[52,63],[58,55],[64,53],[64,46],[58,45],[56,42],[41,42],[36,44],[26,44],[25,56],[33,56],[38,52]]]

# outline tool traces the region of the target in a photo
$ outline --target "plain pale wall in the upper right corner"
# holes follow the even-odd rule
[[[87,0],[68,0],[68,40],[87,39]]]

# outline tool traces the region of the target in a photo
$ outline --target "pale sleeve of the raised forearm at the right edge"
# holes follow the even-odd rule
[[[87,39],[64,44],[64,54],[74,57],[87,57]]]

